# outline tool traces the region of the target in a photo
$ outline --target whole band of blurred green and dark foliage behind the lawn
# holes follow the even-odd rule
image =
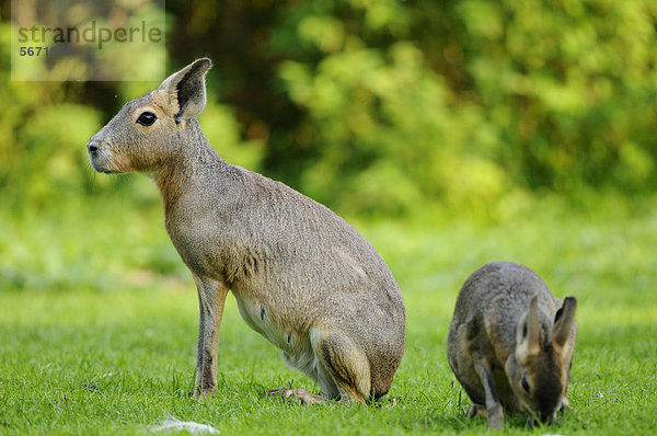
[[[654,1],[169,0],[166,12],[168,70],[215,61],[201,124],[219,153],[341,210],[657,182]],[[9,1],[0,13],[3,206],[130,190],[154,207],[143,182],[92,174],[84,144],[157,83],[11,81]]]

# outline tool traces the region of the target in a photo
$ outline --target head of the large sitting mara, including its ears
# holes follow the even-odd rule
[[[87,144],[91,167],[103,173],[152,172],[175,159],[205,107],[205,74],[211,65],[198,59],[126,103]]]

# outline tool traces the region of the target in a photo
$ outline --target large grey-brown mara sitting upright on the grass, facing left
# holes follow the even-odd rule
[[[166,230],[198,289],[195,395],[217,387],[229,289],[244,321],[326,398],[385,394],[405,346],[399,286],[373,246],[337,215],[215,152],[196,119],[209,68],[209,59],[198,59],[126,103],[88,144],[96,171],[140,171],[158,185]],[[145,112],[157,116],[150,126],[138,123]],[[292,394],[318,400],[284,390]]]

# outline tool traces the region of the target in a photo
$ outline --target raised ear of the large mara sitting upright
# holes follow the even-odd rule
[[[173,117],[176,123],[200,114],[205,107],[205,74],[211,66],[208,58],[197,59],[169,76],[158,88],[177,96],[178,112]]]

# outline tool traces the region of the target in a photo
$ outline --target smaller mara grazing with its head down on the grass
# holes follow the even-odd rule
[[[575,297],[562,303],[535,273],[516,263],[493,262],[468,278],[447,355],[474,411],[485,411],[492,427],[502,426],[503,406],[548,421],[567,404],[575,310]]]

